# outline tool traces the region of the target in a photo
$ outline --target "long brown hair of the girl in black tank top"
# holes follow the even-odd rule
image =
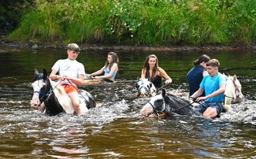
[[[150,57],[154,57],[155,61],[156,61],[153,71],[152,71],[152,76],[150,76],[150,65],[148,64]],[[154,76],[156,76],[156,74],[158,72],[158,57],[157,56],[155,56],[154,54],[150,54],[149,56],[147,56],[146,61],[144,62],[144,65],[143,65],[143,71],[145,72],[145,70],[146,70],[146,78],[150,79],[150,81],[154,81]]]

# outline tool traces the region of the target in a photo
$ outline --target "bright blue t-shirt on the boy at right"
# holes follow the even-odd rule
[[[200,83],[200,87],[206,91],[206,96],[209,94],[212,94],[214,91],[217,91],[220,88],[221,84],[226,84],[226,80],[224,76],[219,72],[217,76],[205,76],[202,79],[202,83]],[[206,99],[206,102],[224,102],[224,93],[213,97]]]

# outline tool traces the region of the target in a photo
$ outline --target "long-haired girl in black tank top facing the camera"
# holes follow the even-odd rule
[[[141,72],[142,79],[149,79],[155,87],[161,87],[161,77],[165,78],[165,84],[172,83],[172,79],[167,75],[163,68],[158,66],[158,57],[154,54],[147,56]]]

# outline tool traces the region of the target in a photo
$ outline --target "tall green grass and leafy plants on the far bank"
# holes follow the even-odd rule
[[[120,45],[256,42],[254,0],[41,0],[10,39]]]

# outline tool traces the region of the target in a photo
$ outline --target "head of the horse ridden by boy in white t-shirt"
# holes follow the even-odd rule
[[[30,102],[32,108],[38,108],[39,105],[47,98],[50,91],[50,80],[47,78],[46,69],[43,73],[39,73],[37,69],[34,71],[33,97]]]

